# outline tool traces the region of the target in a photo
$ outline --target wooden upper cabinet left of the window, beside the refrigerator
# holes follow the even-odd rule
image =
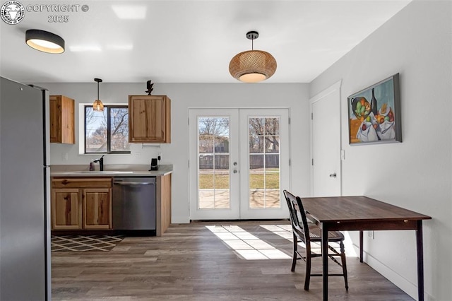
[[[50,142],[76,143],[73,99],[63,95],[50,95]]]

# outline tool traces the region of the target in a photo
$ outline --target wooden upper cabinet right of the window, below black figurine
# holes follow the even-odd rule
[[[129,95],[129,142],[171,142],[171,100],[166,95]]]

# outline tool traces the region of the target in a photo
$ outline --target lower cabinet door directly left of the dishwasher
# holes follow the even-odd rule
[[[112,228],[112,189],[83,189],[83,228]]]

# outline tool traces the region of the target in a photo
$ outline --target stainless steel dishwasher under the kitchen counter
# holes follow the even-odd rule
[[[155,230],[155,177],[114,177],[114,230]]]

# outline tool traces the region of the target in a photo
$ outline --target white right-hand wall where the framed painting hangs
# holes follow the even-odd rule
[[[312,96],[342,79],[343,194],[432,216],[423,224],[430,301],[452,298],[451,18],[451,1],[413,1],[310,85]],[[403,143],[350,147],[347,96],[398,72]],[[414,231],[364,236],[367,262],[416,297]]]

